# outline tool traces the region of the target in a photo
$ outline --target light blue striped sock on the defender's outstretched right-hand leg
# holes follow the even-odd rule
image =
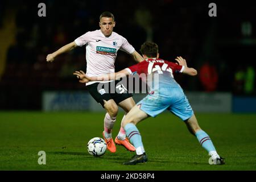
[[[196,138],[199,140],[201,146],[208,151],[216,151],[215,147],[213,146],[212,140],[210,140],[210,137],[207,133],[205,133],[203,130],[199,130],[196,132]]]

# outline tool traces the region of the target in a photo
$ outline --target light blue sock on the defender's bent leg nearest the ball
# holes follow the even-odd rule
[[[127,125],[125,125],[124,129],[126,131],[127,137],[129,138],[131,143],[133,143],[133,146],[136,148],[136,154],[142,155],[145,152],[145,150],[143,147],[141,134],[139,133],[137,127],[133,123],[128,123]]]

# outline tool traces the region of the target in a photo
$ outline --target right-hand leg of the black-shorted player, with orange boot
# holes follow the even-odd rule
[[[129,139],[126,137],[125,129],[122,127],[122,123],[126,117],[126,114],[131,110],[131,108],[133,108],[133,106],[135,106],[133,97],[126,98],[126,100],[119,102],[118,106],[122,107],[126,113],[123,115],[119,133],[117,137],[115,137],[115,143],[124,146],[129,151],[135,151],[135,147],[129,142]]]

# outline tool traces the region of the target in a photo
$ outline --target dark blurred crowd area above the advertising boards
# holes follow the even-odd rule
[[[183,56],[189,67],[196,68],[197,77],[177,75],[185,90],[255,94],[256,61],[251,57],[256,47],[255,6],[250,7],[254,11],[240,6],[239,16],[234,14],[238,6],[217,5],[217,17],[209,17],[208,3],[200,1],[42,2],[46,3],[46,17],[38,16],[38,1],[1,1],[0,29],[3,19],[8,18],[4,13],[16,10],[15,40],[6,52],[5,72],[0,78],[5,94],[19,94],[14,88],[36,94],[86,89],[72,75],[78,69],[86,70],[85,47],[61,55],[53,63],[47,63],[46,56],[85,32],[99,29],[103,11],[114,14],[114,31],[138,52],[144,41],[151,40],[158,44],[162,59]],[[129,55],[118,52],[116,71],[133,64]]]

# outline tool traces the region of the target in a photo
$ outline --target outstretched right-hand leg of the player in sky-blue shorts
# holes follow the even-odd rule
[[[209,135],[200,128],[195,114],[193,114],[191,118],[185,120],[185,124],[187,125],[188,130],[191,132],[191,134],[196,136],[201,146],[205,150],[207,150],[208,154],[211,156],[211,164],[225,164],[224,159],[222,159],[221,156],[218,155]]]

